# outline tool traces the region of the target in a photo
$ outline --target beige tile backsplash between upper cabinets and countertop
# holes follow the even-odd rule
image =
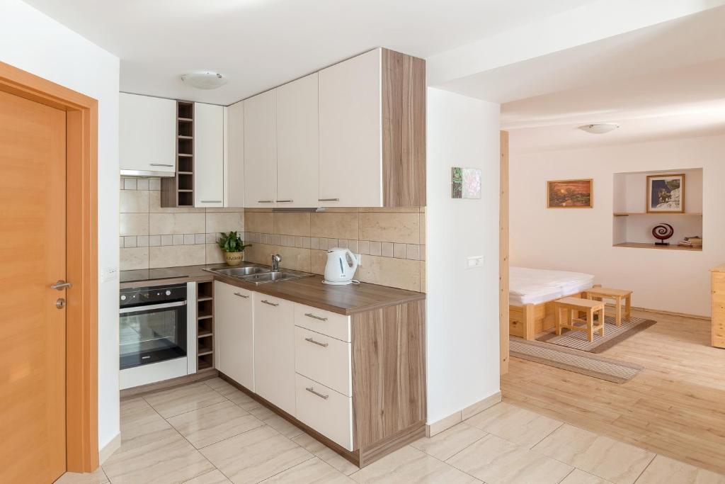
[[[355,279],[425,292],[425,208],[270,209],[162,208],[159,179],[123,178],[120,268],[196,266],[223,262],[215,241],[236,230],[252,243],[245,259],[323,274],[326,250],[349,247],[363,256]]]

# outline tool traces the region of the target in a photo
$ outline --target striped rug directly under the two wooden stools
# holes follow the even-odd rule
[[[600,336],[597,332],[594,335],[594,341],[589,343],[587,333],[581,331],[570,331],[564,329],[560,336],[553,332],[537,338],[538,341],[551,343],[552,345],[566,346],[575,350],[589,351],[589,353],[602,353],[612,348],[617,343],[621,343],[630,336],[636,335],[643,329],[656,324],[657,321],[643,318],[622,319],[621,326],[614,324],[612,316],[605,316],[604,336]]]

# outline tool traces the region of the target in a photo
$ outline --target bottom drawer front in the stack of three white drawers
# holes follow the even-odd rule
[[[297,419],[352,451],[352,398],[301,374],[295,385]]]

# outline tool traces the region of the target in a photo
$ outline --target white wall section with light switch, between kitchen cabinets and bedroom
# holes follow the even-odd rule
[[[428,88],[428,424],[499,391],[499,110]],[[481,168],[481,200],[451,198],[452,166]]]

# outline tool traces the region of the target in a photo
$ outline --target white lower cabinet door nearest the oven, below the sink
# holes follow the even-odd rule
[[[217,369],[254,391],[254,293],[214,282]]]

